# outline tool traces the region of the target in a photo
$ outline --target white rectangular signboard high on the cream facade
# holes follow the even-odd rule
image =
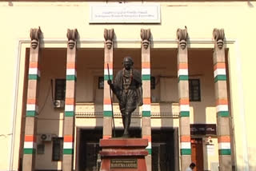
[[[159,4],[91,4],[90,23],[160,23]]]

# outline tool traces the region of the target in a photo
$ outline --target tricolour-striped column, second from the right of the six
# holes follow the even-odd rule
[[[191,163],[190,143],[190,93],[187,54],[187,30],[178,29],[178,98],[179,98],[179,135],[182,169]]]

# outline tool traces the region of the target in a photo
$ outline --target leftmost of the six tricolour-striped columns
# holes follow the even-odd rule
[[[37,120],[38,120],[38,85],[40,80],[39,50],[40,36],[38,29],[30,30],[30,66],[26,100],[26,125],[23,148],[22,170],[34,170],[35,154],[37,146]]]

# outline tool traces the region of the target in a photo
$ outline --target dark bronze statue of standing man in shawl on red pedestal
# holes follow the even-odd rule
[[[108,80],[107,83],[118,97],[124,127],[122,137],[129,137],[131,113],[134,112],[137,105],[142,105],[142,77],[138,70],[133,69],[134,62],[132,58],[125,57],[122,64],[123,69],[118,71],[114,82]]]

